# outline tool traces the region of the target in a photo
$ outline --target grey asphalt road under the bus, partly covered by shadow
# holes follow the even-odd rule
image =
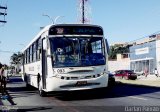
[[[35,88],[26,88],[20,77],[11,77],[4,108],[19,112],[121,112],[160,111],[160,89],[116,84],[113,88],[61,92],[40,97]],[[9,105],[9,106],[6,106]]]

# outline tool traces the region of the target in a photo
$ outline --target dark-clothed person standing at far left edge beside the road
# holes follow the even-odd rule
[[[6,77],[4,76],[4,66],[0,63],[0,89],[2,95],[6,91]]]

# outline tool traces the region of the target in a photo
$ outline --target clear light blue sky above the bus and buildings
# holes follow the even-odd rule
[[[0,23],[0,62],[9,64],[13,52],[21,51],[40,27],[51,23],[43,14],[63,16],[57,23],[77,23],[78,1],[0,0],[0,5],[8,7],[7,23]],[[91,24],[103,27],[109,44],[130,42],[160,31],[160,0],[89,0],[89,6]]]

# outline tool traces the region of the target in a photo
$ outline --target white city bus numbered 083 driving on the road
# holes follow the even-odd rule
[[[23,50],[23,80],[41,96],[107,87],[106,43],[97,25],[46,26]]]

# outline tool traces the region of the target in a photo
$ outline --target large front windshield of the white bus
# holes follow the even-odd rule
[[[104,65],[105,47],[102,37],[50,38],[53,67]]]

